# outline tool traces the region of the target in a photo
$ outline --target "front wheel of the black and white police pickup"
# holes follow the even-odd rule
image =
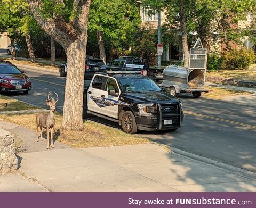
[[[123,114],[121,125],[123,131],[128,134],[135,134],[138,131],[135,117],[131,111],[126,111]]]

